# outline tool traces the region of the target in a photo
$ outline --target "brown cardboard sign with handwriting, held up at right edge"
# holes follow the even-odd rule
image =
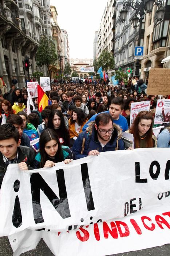
[[[147,95],[170,94],[170,68],[151,68],[147,84]]]

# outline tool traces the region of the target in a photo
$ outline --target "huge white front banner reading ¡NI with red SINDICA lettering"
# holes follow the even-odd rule
[[[66,248],[67,255],[107,255],[170,242],[169,154],[170,148],[139,148],[37,170],[9,165],[0,191],[0,236],[9,236],[15,256],[41,237],[54,255]]]

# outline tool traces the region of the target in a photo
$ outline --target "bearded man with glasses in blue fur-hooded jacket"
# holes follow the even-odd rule
[[[72,151],[74,151],[75,158],[79,159],[88,155],[99,155],[100,152],[124,150],[121,137],[122,131],[112,122],[110,114],[100,113],[95,121],[89,123],[86,131],[80,133]]]

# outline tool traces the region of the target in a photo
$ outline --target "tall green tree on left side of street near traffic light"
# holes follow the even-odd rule
[[[36,52],[36,63],[38,66],[47,66],[48,76],[50,65],[55,65],[58,57],[56,54],[55,44],[48,35],[43,35]]]

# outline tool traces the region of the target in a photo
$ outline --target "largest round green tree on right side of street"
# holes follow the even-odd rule
[[[102,69],[105,68],[106,72],[107,69],[114,69],[115,61],[114,61],[114,56],[110,53],[107,52],[106,50],[103,50],[103,52],[100,54],[98,58],[99,62],[99,67],[102,66]]]

